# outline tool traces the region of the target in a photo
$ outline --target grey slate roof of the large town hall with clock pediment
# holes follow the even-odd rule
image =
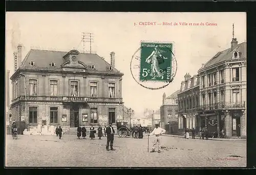
[[[66,62],[63,56],[65,56],[68,53],[69,52],[30,49],[20,67],[31,68],[29,63],[31,61],[34,61],[35,65],[33,66],[33,68],[61,69],[61,64]],[[106,67],[110,66],[108,62],[103,60],[97,54],[80,53],[77,59],[78,61],[83,62],[87,66],[95,65],[96,71],[106,71]],[[51,67],[51,62],[54,62],[56,66]],[[92,69],[90,69],[90,71],[92,71]],[[113,68],[112,71],[119,72],[116,68]]]

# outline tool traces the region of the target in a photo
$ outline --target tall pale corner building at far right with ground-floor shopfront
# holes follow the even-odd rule
[[[246,136],[246,59],[246,42],[232,38],[230,48],[199,69],[200,128]]]

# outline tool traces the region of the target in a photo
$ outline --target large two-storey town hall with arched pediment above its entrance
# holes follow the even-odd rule
[[[97,54],[31,49],[10,78],[13,117],[28,128],[104,126],[123,119],[123,73]],[[17,55],[14,53],[14,57]]]

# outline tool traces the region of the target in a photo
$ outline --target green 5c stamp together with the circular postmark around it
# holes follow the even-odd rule
[[[157,90],[168,86],[177,72],[174,42],[141,41],[130,69],[133,79],[144,88]]]

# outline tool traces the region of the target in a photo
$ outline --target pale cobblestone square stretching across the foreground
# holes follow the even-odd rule
[[[154,136],[150,137],[150,151]],[[246,141],[161,138],[161,153],[147,153],[143,139],[115,136],[115,151],[106,151],[106,138],[75,136],[6,137],[7,167],[245,167]],[[234,157],[232,157],[234,156]],[[236,157],[239,156],[239,157]]]

